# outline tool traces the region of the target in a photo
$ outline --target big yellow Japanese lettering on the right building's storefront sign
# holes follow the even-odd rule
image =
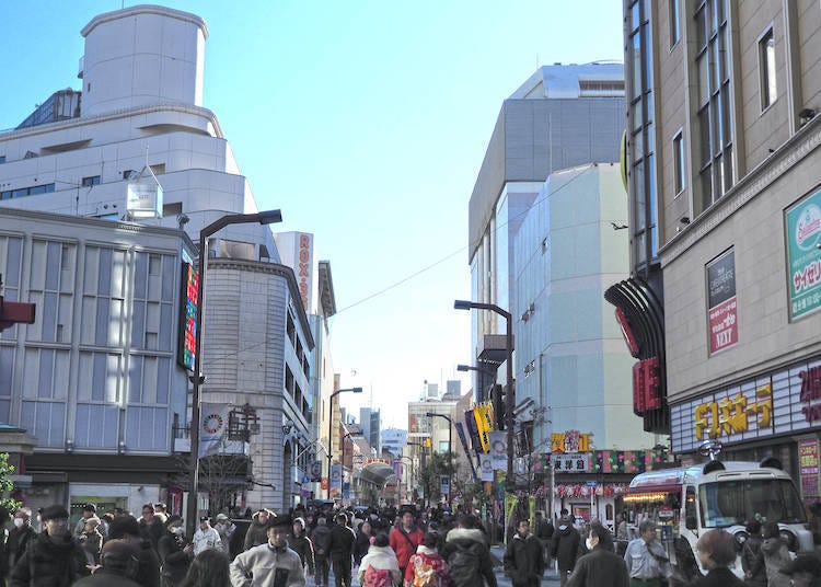
[[[773,392],[770,383],[755,388],[755,401],[738,392],[736,396],[722,398],[698,404],[693,408],[695,437],[717,438],[721,435],[745,433],[750,429],[750,417],[758,419],[759,428],[768,428],[773,418]]]

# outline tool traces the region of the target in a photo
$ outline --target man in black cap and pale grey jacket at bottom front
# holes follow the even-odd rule
[[[231,563],[233,587],[304,587],[305,574],[299,554],[288,548],[290,516],[270,518],[265,544],[236,555]]]

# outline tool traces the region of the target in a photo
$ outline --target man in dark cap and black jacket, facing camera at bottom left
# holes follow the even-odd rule
[[[45,530],[30,542],[11,572],[10,587],[68,587],[89,574],[83,550],[71,536],[69,514],[61,505],[41,511]]]

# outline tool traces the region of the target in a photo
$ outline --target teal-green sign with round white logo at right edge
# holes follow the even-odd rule
[[[821,191],[787,209],[789,318],[800,318],[821,306]]]

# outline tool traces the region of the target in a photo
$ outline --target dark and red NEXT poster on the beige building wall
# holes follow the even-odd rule
[[[707,307],[710,354],[737,344],[736,253],[732,249],[707,264]]]

